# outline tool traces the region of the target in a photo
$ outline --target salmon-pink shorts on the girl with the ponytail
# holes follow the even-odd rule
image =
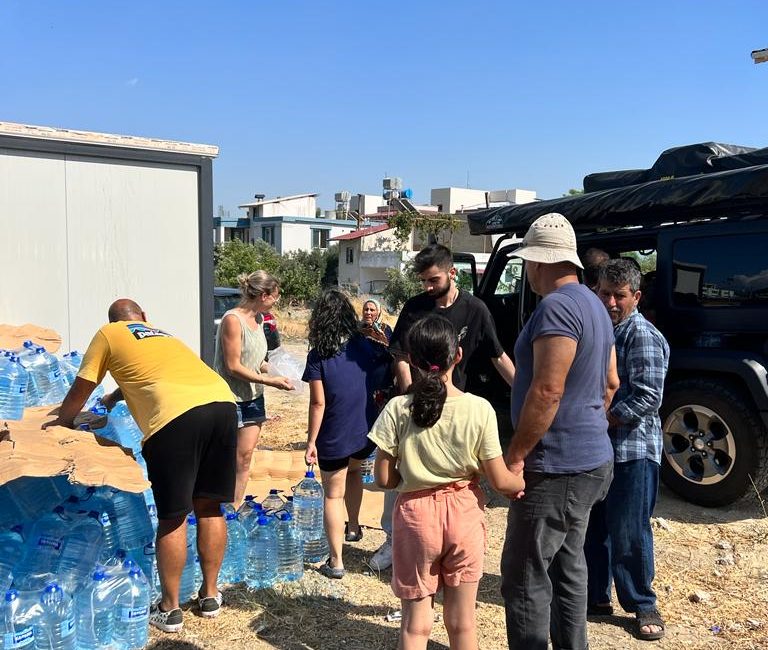
[[[487,541],[484,509],[476,482],[400,493],[392,515],[395,596],[413,600],[443,585],[478,582]]]

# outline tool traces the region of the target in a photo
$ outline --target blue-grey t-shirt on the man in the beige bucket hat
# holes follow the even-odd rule
[[[528,454],[525,468],[553,474],[595,469],[613,458],[604,403],[613,347],[611,319],[583,284],[569,283],[544,297],[515,344],[514,426],[533,378],[533,342],[547,335],[576,341],[576,356],[555,419]]]

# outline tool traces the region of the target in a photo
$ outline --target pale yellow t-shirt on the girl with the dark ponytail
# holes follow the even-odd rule
[[[448,397],[431,427],[411,419],[412,395],[391,399],[368,437],[397,459],[398,492],[414,492],[473,478],[480,461],[501,456],[496,414],[487,400],[471,393]]]

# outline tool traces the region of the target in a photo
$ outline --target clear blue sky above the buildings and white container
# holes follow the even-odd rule
[[[0,0],[0,120],[215,144],[254,193],[520,187],[768,146],[768,2]]]

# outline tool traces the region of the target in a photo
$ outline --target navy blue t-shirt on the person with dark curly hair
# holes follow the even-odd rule
[[[368,375],[372,369],[371,348],[362,336],[354,336],[329,359],[310,350],[302,381],[323,382],[325,411],[317,434],[317,455],[323,460],[345,458],[368,444],[370,408]],[[373,416],[375,420],[375,416]]]

